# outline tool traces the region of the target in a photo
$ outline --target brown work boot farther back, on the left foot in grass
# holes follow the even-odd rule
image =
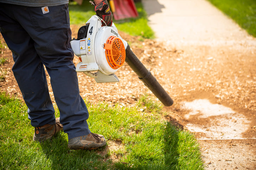
[[[42,142],[52,138],[57,132],[63,130],[63,125],[59,122],[59,117],[56,118],[55,124],[45,124],[41,127],[34,128],[33,141]]]

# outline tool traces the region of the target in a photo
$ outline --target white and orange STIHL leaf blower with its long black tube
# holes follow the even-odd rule
[[[119,82],[114,73],[125,61],[165,106],[173,104],[165,89],[118,34],[114,23],[111,27],[102,26],[101,18],[93,15],[85,26],[79,28],[77,39],[70,43],[81,61],[76,66],[76,72],[93,77],[97,83]]]

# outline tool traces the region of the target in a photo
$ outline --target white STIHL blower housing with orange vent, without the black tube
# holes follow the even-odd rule
[[[101,19],[93,15],[78,30],[77,39],[70,43],[81,60],[76,66],[76,72],[93,77],[97,83],[119,82],[114,73],[125,61],[127,42],[120,37],[114,23],[111,27],[102,27]]]

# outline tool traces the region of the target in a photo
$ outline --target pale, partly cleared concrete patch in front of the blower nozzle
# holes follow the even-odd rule
[[[186,127],[200,134],[198,139],[244,139],[244,132],[250,128],[251,122],[243,114],[206,99],[184,102],[182,107],[190,110],[184,116],[189,121]]]

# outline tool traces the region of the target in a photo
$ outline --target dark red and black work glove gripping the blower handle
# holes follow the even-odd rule
[[[103,0],[101,1],[101,3],[99,4],[95,4],[95,2],[90,1],[92,5],[94,5],[94,11],[96,12],[96,14],[103,19],[103,21],[101,21],[102,26],[111,26],[112,25],[112,13],[110,11],[109,5],[108,5],[108,1],[107,0]],[[100,8],[102,8],[100,10]]]

